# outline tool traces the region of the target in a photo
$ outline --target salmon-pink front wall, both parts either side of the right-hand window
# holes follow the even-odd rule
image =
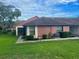
[[[42,37],[42,35],[51,33],[55,34],[57,32],[57,27],[56,26],[39,26],[38,28],[38,37]],[[69,26],[63,26],[63,32],[69,32],[70,28]]]

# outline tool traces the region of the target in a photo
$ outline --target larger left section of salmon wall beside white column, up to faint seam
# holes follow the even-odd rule
[[[50,32],[50,27],[48,26],[39,26],[38,27],[38,37],[42,37],[44,34],[48,34]]]

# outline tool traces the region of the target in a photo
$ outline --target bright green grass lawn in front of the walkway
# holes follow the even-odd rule
[[[79,40],[16,44],[12,35],[0,35],[0,59],[79,59]]]

